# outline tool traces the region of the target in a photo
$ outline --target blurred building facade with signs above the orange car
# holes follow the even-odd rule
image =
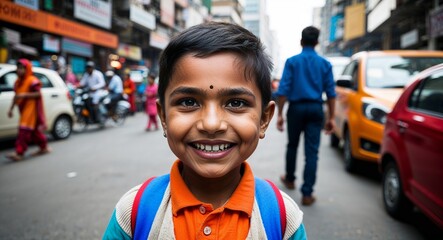
[[[442,0],[326,0],[322,11],[325,54],[443,49]]]

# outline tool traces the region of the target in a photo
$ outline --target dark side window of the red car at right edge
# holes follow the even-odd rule
[[[443,70],[422,80],[412,92],[409,107],[443,116]]]

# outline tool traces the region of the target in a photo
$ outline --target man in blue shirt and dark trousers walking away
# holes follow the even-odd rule
[[[302,31],[300,54],[286,60],[283,76],[276,92],[278,102],[277,129],[283,131],[283,108],[286,102],[289,107],[286,113],[288,145],[286,150],[286,175],[280,180],[286,188],[295,189],[295,169],[297,148],[300,134],[304,133],[305,169],[303,173],[302,204],[311,205],[317,172],[318,148],[321,129],[324,126],[330,134],[334,128],[335,83],[332,65],[320,57],[314,50],[318,44],[320,31],[307,27]],[[324,123],[322,94],[326,93],[328,118]]]

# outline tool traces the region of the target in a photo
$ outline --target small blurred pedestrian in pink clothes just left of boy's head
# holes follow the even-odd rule
[[[155,130],[158,129],[157,124],[157,89],[158,86],[155,83],[155,75],[149,74],[148,76],[148,86],[146,86],[145,96],[146,96],[146,114],[148,115],[148,125],[146,126],[146,131],[151,130],[151,124],[154,124]]]

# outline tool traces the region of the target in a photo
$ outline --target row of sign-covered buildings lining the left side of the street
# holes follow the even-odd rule
[[[209,20],[202,0],[0,1],[0,63],[20,57],[74,73],[93,60],[99,70],[158,71],[171,37]]]

